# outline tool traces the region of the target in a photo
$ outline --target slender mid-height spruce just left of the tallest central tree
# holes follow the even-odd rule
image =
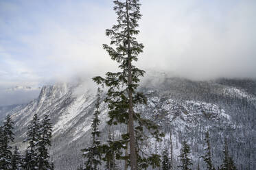
[[[87,147],[86,149],[82,149],[84,151],[83,156],[86,158],[85,167],[86,170],[97,169],[99,165],[101,165],[101,153],[100,153],[100,141],[97,138],[100,137],[100,131],[98,130],[98,126],[100,125],[100,94],[102,90],[100,88],[97,89],[97,101],[95,104],[95,112],[93,113],[93,120],[91,123],[92,132],[91,136],[93,138],[93,143],[91,147]]]

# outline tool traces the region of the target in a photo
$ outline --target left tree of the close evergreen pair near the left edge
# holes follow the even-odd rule
[[[27,147],[26,153],[26,167],[27,170],[38,169],[38,154],[36,152],[36,147],[38,146],[38,141],[40,138],[40,124],[37,114],[34,114],[32,121],[27,127],[27,138],[24,142],[29,145]]]

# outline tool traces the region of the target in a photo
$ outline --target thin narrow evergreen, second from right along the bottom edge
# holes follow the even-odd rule
[[[207,147],[205,148],[205,155],[202,156],[203,160],[207,164],[208,170],[215,170],[212,160],[211,160],[211,144],[210,144],[210,137],[209,137],[209,131],[205,134],[205,142],[207,144]]]

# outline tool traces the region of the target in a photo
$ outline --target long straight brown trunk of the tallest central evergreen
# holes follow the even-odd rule
[[[128,14],[128,0],[126,0],[126,14],[127,14],[127,43],[128,43],[128,97],[129,97],[129,122],[128,129],[130,135],[130,168],[131,170],[137,170],[137,154],[135,144],[135,130],[134,130],[134,119],[133,119],[133,104],[132,104],[132,55],[130,48],[130,21]]]

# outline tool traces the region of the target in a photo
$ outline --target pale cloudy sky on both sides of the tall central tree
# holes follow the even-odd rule
[[[256,77],[255,0],[141,0],[143,69],[192,79]],[[0,89],[115,70],[102,49],[112,0],[1,0]]]

